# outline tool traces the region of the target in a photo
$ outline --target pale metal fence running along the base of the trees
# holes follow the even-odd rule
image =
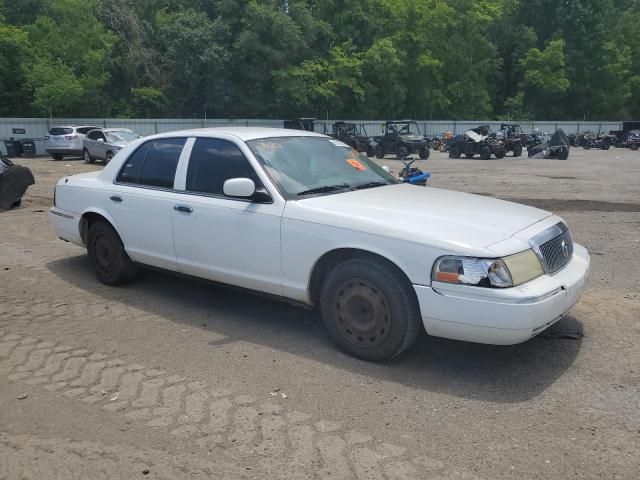
[[[327,131],[331,131],[331,125],[335,120],[321,120]],[[382,132],[384,120],[346,120],[363,124],[369,135],[379,135]],[[427,136],[439,135],[446,131],[456,134],[464,133],[478,125],[489,125],[492,130],[500,129],[501,121],[488,120],[418,120],[421,132]],[[591,130],[596,133],[610,130],[621,130],[621,122],[580,122],[580,121],[550,121],[550,122],[517,122],[525,132],[531,132],[538,128],[543,133],[553,133],[557,128],[562,128],[565,133],[578,133]],[[172,130],[185,130],[206,127],[227,126],[251,126],[251,127],[276,127],[282,128],[282,120],[268,119],[118,119],[118,118],[0,118],[0,152],[6,153],[2,140],[14,138],[33,139],[36,143],[38,155],[45,154],[44,137],[51,127],[57,125],[95,125],[97,127],[130,128],[140,135],[153,135],[154,133],[169,132]],[[322,128],[322,127],[321,127]],[[320,128],[320,130],[321,130]],[[316,127],[318,130],[318,127]]]

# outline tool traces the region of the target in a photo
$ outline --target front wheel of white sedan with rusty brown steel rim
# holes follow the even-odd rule
[[[369,258],[348,260],[328,274],[320,310],[338,347],[370,361],[400,355],[422,323],[411,285],[390,265]]]

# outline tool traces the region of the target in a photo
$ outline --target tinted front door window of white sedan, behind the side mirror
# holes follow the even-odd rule
[[[217,138],[198,138],[187,168],[187,190],[224,195],[222,186],[230,178],[250,178],[256,188],[260,179],[237,145]]]

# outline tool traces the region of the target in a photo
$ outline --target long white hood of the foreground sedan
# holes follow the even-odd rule
[[[552,214],[468,193],[398,184],[287,203],[285,217],[398,238],[468,255]],[[522,249],[527,248],[526,242]]]

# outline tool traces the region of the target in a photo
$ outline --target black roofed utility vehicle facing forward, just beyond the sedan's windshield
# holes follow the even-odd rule
[[[412,120],[387,121],[383,127],[384,135],[374,137],[377,158],[393,154],[398,158],[406,158],[417,154],[422,160],[429,158],[429,144],[420,133],[418,124]]]

